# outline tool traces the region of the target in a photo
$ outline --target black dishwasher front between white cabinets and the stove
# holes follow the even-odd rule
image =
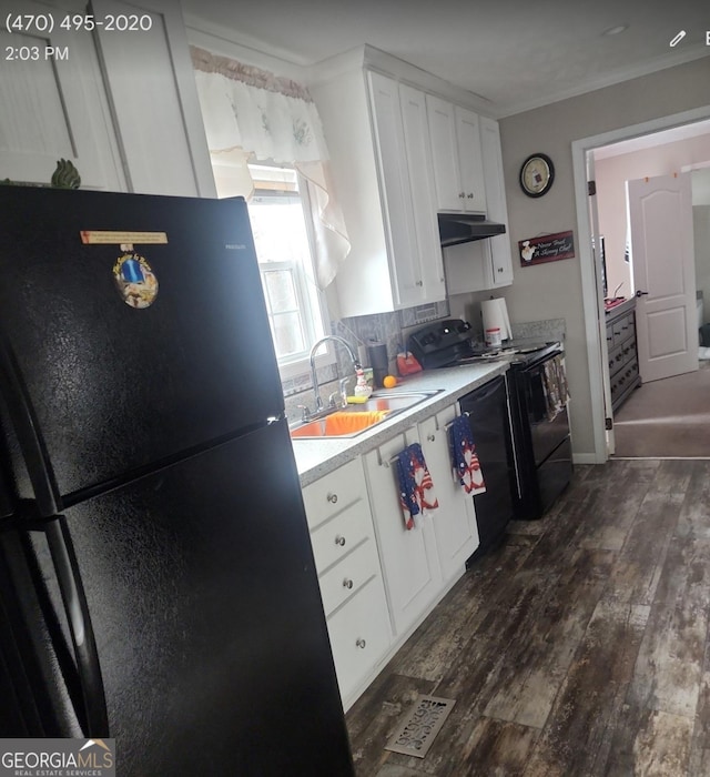
[[[513,516],[510,484],[515,470],[506,377],[495,377],[463,396],[459,403],[462,413],[468,416],[486,484],[485,493],[473,497],[480,544],[468,566],[503,542]]]

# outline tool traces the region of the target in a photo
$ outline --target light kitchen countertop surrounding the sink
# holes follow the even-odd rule
[[[399,379],[397,387],[393,389],[392,392],[378,390],[378,393],[383,394],[395,394],[397,391],[442,391],[355,437],[293,440],[301,486],[307,486],[352,461],[355,456],[373,451],[413,424],[453,405],[459,397],[474,389],[481,386],[497,375],[503,375],[508,367],[508,360],[501,360],[485,364],[429,370]]]

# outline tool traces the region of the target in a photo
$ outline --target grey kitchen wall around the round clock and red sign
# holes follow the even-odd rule
[[[544,232],[574,230],[577,238],[572,141],[708,107],[709,83],[710,58],[706,57],[501,119],[508,226],[514,256],[517,256],[519,240]],[[526,157],[536,151],[552,158],[556,181],[548,194],[531,200],[520,191],[518,172]],[[565,319],[567,322],[566,362],[575,453],[578,460],[589,457],[589,461],[594,461],[591,392],[579,260],[567,259],[531,268],[520,268],[516,262],[514,269],[514,284],[505,294],[511,317],[515,321]]]

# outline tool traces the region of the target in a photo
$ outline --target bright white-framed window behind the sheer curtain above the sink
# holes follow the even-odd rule
[[[292,373],[323,335],[321,294],[312,261],[307,193],[292,168],[250,164],[248,213],[278,364]],[[301,364],[301,367],[303,365]]]

